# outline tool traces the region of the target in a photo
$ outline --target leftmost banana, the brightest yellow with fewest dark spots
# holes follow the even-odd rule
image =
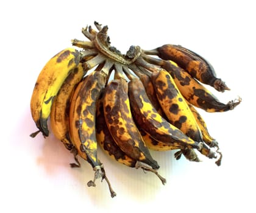
[[[47,120],[52,102],[69,73],[77,67],[80,52],[73,48],[60,51],[52,57],[38,75],[30,100],[32,118],[43,136],[49,135]],[[31,136],[35,136],[32,134]]]

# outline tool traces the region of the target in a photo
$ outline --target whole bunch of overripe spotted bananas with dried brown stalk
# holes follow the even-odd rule
[[[151,51],[130,46],[121,54],[110,45],[108,27],[94,24],[97,30],[82,29],[90,41],[72,40],[80,51],[60,51],[40,72],[30,102],[38,131],[30,136],[49,136],[51,124],[52,133],[74,155],[71,167],[80,167],[77,156],[87,161],[94,170],[88,186],[102,178],[112,197],[116,194],[98,159],[98,144],[111,158],[152,172],[163,184],[150,150],[177,150],[176,159],[183,155],[190,161],[200,161],[197,152],[219,156],[219,166],[218,142],[196,108],[224,112],[241,99],[225,104],[205,88],[229,90],[210,63],[172,44]]]

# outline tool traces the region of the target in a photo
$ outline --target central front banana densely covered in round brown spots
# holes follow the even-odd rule
[[[132,119],[128,97],[128,85],[124,79],[112,80],[105,88],[103,105],[108,130],[118,147],[126,155],[158,169]]]

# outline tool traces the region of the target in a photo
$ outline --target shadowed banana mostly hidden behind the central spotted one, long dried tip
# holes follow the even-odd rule
[[[112,159],[115,159],[115,161],[118,161],[119,163],[124,164],[128,167],[136,169],[141,168],[143,170],[153,172],[162,181],[162,184],[166,183],[165,178],[160,176],[156,170],[141,164],[139,161],[133,158],[130,158],[130,156],[126,155],[126,153],[124,153],[121,148],[118,147],[105,122],[102,99],[99,99],[97,103],[96,138],[102,150],[107,153],[107,155],[110,156]]]

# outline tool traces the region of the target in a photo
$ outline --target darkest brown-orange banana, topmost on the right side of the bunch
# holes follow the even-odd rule
[[[226,84],[216,77],[213,66],[207,60],[185,47],[165,44],[152,52],[156,52],[158,57],[164,60],[176,62],[180,68],[185,69],[194,78],[202,83],[213,86],[218,91],[224,92],[229,90]]]

